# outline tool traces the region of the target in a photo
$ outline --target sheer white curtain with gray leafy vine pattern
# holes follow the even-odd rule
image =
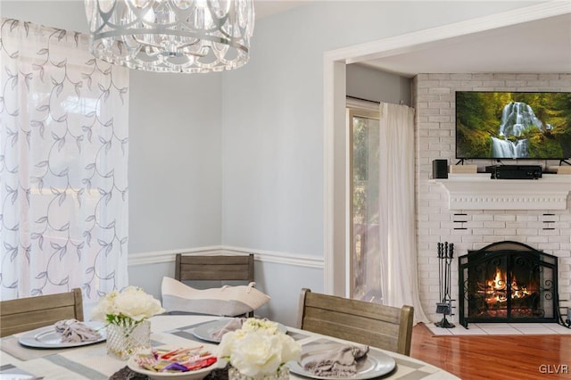
[[[87,43],[2,20],[2,300],[128,284],[128,70]]]

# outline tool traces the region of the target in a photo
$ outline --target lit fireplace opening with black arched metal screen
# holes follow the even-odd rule
[[[558,259],[498,242],[459,257],[459,322],[558,322]]]

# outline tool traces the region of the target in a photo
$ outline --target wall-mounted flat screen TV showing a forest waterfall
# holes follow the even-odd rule
[[[569,157],[571,93],[456,92],[456,158]]]

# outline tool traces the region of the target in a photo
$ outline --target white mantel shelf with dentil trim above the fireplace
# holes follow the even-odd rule
[[[450,210],[566,210],[571,175],[539,179],[492,179],[489,173],[431,179],[448,192]]]

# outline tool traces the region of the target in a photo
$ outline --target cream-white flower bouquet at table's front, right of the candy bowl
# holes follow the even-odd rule
[[[248,318],[242,328],[222,336],[218,357],[243,376],[272,376],[290,360],[299,360],[302,347],[276,322]]]

